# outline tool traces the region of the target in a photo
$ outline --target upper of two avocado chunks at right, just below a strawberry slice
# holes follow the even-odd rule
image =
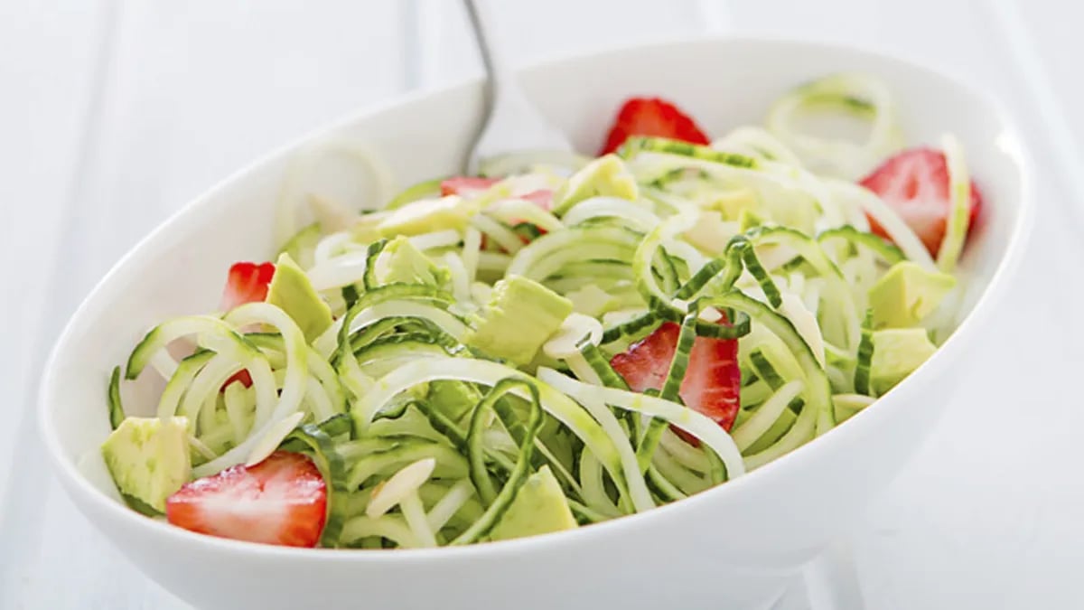
[[[911,260],[892,265],[869,289],[874,328],[913,327],[929,316],[956,279],[946,274],[927,271]]]

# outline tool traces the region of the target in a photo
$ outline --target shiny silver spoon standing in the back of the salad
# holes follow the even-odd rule
[[[481,161],[503,153],[570,152],[568,139],[539,114],[501,56],[486,0],[463,0],[463,4],[488,76],[485,119],[467,155],[466,174],[478,175]]]

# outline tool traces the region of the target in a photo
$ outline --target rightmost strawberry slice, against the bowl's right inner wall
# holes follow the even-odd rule
[[[908,149],[889,158],[860,182],[892,206],[922,240],[930,255],[937,256],[945,237],[952,198],[949,192],[949,164],[941,151]],[[982,193],[971,182],[971,227],[982,209]],[[869,229],[888,239],[883,227],[873,218]]]

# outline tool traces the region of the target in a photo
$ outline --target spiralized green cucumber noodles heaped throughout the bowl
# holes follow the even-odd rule
[[[867,135],[801,132],[811,113],[863,123]],[[887,88],[837,75],[784,96],[766,128],[738,127],[711,147],[631,139],[616,157],[631,192],[603,183],[570,200],[568,182],[591,160],[517,153],[490,160],[483,170],[500,180],[469,193],[441,200],[435,180],[392,196],[378,155],[317,147],[289,165],[279,227],[333,326],[307,340],[270,303],[172,319],[139,344],[124,377],[165,379],[156,415],[188,418],[197,476],[279,443],[313,455],[334,496],[322,546],[486,541],[543,467],[580,524],[648,510],[776,459],[875,402],[870,287],[903,262],[952,272],[967,233],[968,171],[952,137],[953,207],[935,260],[890,205],[852,182],[899,148],[900,134]],[[357,202],[310,192],[317,162],[332,153],[375,185],[369,207],[467,206],[464,218],[410,231],[442,281],[382,284],[396,234],[378,223],[392,212],[356,213]],[[544,190],[564,200],[531,201]],[[317,221],[299,228],[306,214]],[[866,232],[867,218],[898,247]],[[576,308],[518,367],[468,339],[493,284],[513,275]],[[723,312],[730,326],[715,322]],[[925,330],[951,331],[937,319]],[[663,320],[683,333],[667,385],[632,392],[609,360]],[[730,433],[676,396],[689,339],[705,334],[738,341],[741,404]],[[175,359],[166,348],[182,338],[195,350]],[[242,369],[251,383],[221,390]],[[114,427],[120,378],[118,368],[109,383]],[[284,430],[291,417],[304,421]]]

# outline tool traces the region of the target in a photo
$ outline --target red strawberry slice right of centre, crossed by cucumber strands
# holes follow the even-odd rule
[[[680,326],[663,322],[651,334],[632,344],[627,352],[614,356],[610,366],[635,392],[661,390],[670,371],[670,361],[674,357],[680,334]],[[679,391],[682,402],[728,431],[738,414],[740,387],[737,340],[697,336]],[[674,431],[689,443],[697,444],[684,431]]]

